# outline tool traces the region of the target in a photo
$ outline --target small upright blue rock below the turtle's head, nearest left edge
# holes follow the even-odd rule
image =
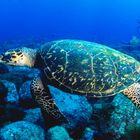
[[[8,82],[6,80],[2,80],[5,87],[8,89],[7,97],[5,98],[5,102],[18,104],[19,103],[19,95],[16,90],[15,84]]]

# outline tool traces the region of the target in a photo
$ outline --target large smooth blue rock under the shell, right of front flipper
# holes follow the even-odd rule
[[[87,123],[92,115],[92,106],[84,96],[69,94],[49,86],[51,94],[71,127]]]

